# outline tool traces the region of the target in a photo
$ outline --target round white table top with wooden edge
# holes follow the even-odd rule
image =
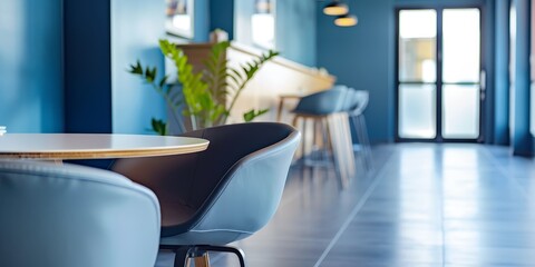
[[[4,134],[0,158],[103,159],[203,151],[208,140],[187,137],[106,134]]]

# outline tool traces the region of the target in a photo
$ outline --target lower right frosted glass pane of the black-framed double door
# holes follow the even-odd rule
[[[479,86],[442,87],[444,138],[479,137]]]

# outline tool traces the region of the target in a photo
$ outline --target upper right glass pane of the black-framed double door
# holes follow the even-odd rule
[[[444,82],[479,81],[479,10],[444,10]]]

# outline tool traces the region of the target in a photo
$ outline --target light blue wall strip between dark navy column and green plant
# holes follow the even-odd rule
[[[111,0],[113,131],[148,134],[150,118],[166,118],[163,98],[128,66],[140,60],[164,71],[158,39],[165,34],[164,1]],[[201,24],[201,23],[195,23]]]

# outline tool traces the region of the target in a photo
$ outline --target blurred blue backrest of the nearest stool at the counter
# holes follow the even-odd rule
[[[295,113],[329,115],[342,111],[344,97],[348,91],[346,86],[334,86],[329,90],[305,96],[299,100],[293,110]]]

